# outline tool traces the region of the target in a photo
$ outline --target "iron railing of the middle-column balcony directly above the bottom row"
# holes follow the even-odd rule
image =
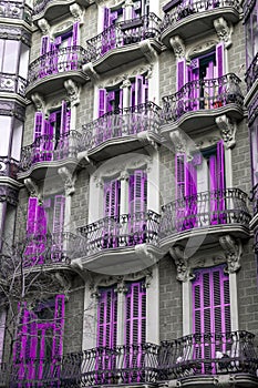
[[[153,211],[99,219],[79,228],[85,239],[81,241],[81,252],[89,256],[102,249],[157,244],[158,225],[159,215]]]

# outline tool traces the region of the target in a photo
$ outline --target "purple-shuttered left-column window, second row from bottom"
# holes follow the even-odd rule
[[[28,265],[43,264],[49,257],[47,234],[51,233],[51,262],[60,262],[62,253],[62,232],[64,222],[65,197],[61,194],[49,197],[44,204],[39,204],[37,197],[29,198],[27,234],[30,238],[25,256]]]

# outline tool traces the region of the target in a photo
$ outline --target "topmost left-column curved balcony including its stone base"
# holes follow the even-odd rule
[[[27,96],[39,92],[49,93],[51,90],[63,88],[68,79],[79,83],[85,83],[89,78],[83,73],[86,51],[80,45],[62,48],[39,57],[29,65]]]

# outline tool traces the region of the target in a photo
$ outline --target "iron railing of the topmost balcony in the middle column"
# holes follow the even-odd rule
[[[151,12],[137,19],[112,24],[86,41],[87,61],[95,61],[112,49],[137,43],[148,38],[159,39],[161,21],[155,13]]]

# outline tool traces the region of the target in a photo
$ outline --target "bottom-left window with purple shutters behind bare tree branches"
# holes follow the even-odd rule
[[[20,325],[13,359],[22,379],[41,379],[50,371],[56,377],[55,359],[62,355],[64,328],[64,295],[39,302],[33,309],[19,305]],[[39,361],[35,363],[34,360]],[[48,360],[48,363],[45,363]],[[24,363],[28,363],[24,368]]]

